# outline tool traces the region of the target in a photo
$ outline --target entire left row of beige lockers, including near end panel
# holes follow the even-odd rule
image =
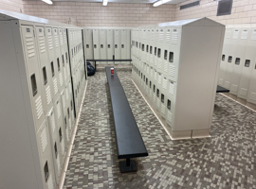
[[[82,28],[4,10],[0,28],[1,186],[57,188],[85,88]]]

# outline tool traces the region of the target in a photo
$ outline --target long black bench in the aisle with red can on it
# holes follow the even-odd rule
[[[115,70],[114,75],[111,75],[110,68],[112,67],[106,67],[105,71],[114,117],[118,158],[126,159],[125,162],[119,163],[119,169],[121,173],[137,171],[137,164],[131,158],[148,156],[148,152],[117,72]]]

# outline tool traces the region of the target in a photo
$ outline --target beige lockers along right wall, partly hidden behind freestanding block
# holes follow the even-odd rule
[[[229,26],[225,33],[219,85],[256,104],[256,26]]]

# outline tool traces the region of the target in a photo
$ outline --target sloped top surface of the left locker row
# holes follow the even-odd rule
[[[81,28],[78,26],[72,26],[72,25],[67,25],[64,23],[59,23],[56,21],[47,20],[45,18],[39,18],[39,17],[30,16],[30,15],[23,14],[23,13],[12,12],[12,11],[8,11],[8,10],[0,9],[0,21],[10,21],[10,20],[21,20],[21,21],[41,23],[41,24],[52,25],[52,26],[66,26],[66,27]]]

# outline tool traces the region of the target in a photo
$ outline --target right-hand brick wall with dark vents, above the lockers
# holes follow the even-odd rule
[[[224,25],[256,23],[256,0],[233,0],[231,14],[226,16],[216,16],[218,2],[213,0],[201,0],[200,6],[179,9],[181,5],[194,1],[190,0],[176,5],[175,20],[209,17]]]

